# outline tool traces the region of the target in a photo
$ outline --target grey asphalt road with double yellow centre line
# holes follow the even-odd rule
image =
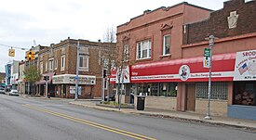
[[[0,95],[1,140],[253,140],[255,132]]]

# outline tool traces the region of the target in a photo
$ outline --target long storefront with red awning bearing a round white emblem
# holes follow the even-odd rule
[[[212,113],[226,115],[236,53],[214,55],[212,60]],[[203,68],[203,57],[137,64],[130,66],[129,73],[130,83],[125,85],[134,95],[147,95],[146,108],[206,112],[209,69]],[[115,76],[116,72],[112,83],[116,83]]]

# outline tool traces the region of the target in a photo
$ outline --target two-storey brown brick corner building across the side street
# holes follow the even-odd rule
[[[101,97],[102,59],[113,43],[66,39],[39,53],[39,71],[49,76],[48,93],[51,96],[74,98],[76,74],[76,46],[80,45],[79,98]],[[48,68],[48,69],[47,69]],[[38,94],[45,95],[46,81],[37,83]]]

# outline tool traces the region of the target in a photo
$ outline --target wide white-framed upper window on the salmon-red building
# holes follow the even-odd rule
[[[146,40],[146,41],[137,43],[136,58],[144,59],[144,58],[150,58],[150,57],[151,57],[151,41]]]

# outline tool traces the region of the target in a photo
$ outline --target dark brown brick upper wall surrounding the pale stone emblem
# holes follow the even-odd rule
[[[227,18],[230,12],[236,11],[238,15],[236,28],[229,29]],[[192,44],[205,41],[209,34],[218,38],[236,36],[256,32],[256,2],[245,3],[244,0],[231,0],[224,2],[222,9],[210,14],[209,19],[186,25],[183,34],[183,44]]]

